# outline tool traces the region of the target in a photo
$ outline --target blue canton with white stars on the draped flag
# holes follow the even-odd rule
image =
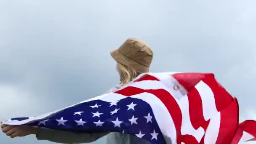
[[[29,117],[13,118],[25,120]],[[150,105],[127,97],[115,102],[93,100],[63,109],[28,125],[76,132],[129,133],[152,144],[165,144]]]

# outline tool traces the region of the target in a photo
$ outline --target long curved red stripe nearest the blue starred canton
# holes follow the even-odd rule
[[[181,143],[181,122],[182,122],[181,109],[179,108],[179,105],[176,102],[176,100],[168,91],[165,91],[164,89],[144,90],[136,87],[126,87],[124,89],[121,89],[120,91],[116,91],[115,93],[119,93],[124,96],[132,96],[132,95],[136,95],[144,92],[155,95],[158,99],[160,99],[163,102],[165,107],[168,109],[176,128],[177,144],[180,144]]]

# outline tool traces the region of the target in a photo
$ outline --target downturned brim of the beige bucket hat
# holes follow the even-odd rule
[[[115,61],[127,67],[130,67],[131,69],[136,70],[136,72],[139,72],[139,73],[149,72],[149,67],[146,67],[142,64],[139,64],[136,61],[133,61],[129,57],[125,56],[123,53],[120,53],[118,49],[110,52],[110,55],[113,57],[113,59],[115,59]]]

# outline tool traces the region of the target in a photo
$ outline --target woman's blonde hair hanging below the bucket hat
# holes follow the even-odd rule
[[[135,79],[140,73],[136,72],[134,69],[127,67],[123,64],[117,62],[117,68],[120,72],[120,85],[126,85]]]

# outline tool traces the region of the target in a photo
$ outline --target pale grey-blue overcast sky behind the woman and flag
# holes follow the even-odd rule
[[[151,72],[214,73],[237,97],[240,122],[256,120],[255,5],[255,0],[0,0],[0,120],[101,95],[119,80],[109,52],[128,37],[154,51]],[[4,133],[0,141],[52,144]]]

